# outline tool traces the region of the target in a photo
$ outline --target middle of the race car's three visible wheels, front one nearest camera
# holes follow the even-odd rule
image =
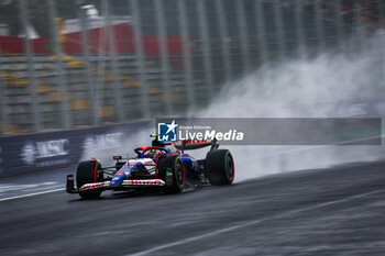
[[[179,193],[185,189],[185,168],[179,156],[160,158],[156,168],[158,178],[166,181],[165,193]]]

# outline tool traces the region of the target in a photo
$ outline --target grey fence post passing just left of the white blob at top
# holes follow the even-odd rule
[[[81,30],[81,43],[82,43],[82,53],[85,55],[86,58],[86,71],[87,71],[87,84],[88,84],[88,91],[90,94],[90,103],[91,103],[91,115],[92,115],[92,125],[98,125],[99,124],[99,115],[98,115],[98,101],[96,99],[96,93],[95,93],[95,79],[92,76],[92,64],[89,57],[89,42],[88,42],[88,26],[87,26],[87,21],[85,18],[85,10],[81,9],[81,0],[77,0],[77,5],[76,5],[76,10],[77,10],[77,14],[80,18],[80,30]]]

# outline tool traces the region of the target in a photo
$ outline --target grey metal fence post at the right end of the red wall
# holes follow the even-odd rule
[[[178,10],[178,22],[180,23],[180,31],[183,37],[183,60],[184,60],[184,69],[187,82],[188,90],[188,107],[195,108],[196,94],[195,94],[195,85],[193,79],[193,64],[191,64],[191,53],[190,53],[190,38],[188,37],[188,20],[187,20],[187,4],[185,0],[177,1],[177,10]]]

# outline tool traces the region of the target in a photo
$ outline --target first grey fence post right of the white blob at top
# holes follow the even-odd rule
[[[103,9],[103,16],[105,16],[105,25],[107,29],[107,36],[108,36],[108,45],[109,45],[109,58],[112,65],[112,76],[113,76],[113,96],[114,96],[114,102],[116,102],[116,113],[118,116],[118,122],[125,121],[124,116],[124,109],[122,103],[122,92],[121,92],[121,82],[120,82],[120,70],[117,62],[117,49],[116,49],[116,42],[114,42],[114,33],[113,33],[113,26],[111,24],[111,10],[109,0],[102,1],[102,9]]]

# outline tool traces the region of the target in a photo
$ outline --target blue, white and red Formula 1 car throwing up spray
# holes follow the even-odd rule
[[[188,185],[230,185],[234,180],[234,162],[230,151],[218,149],[213,140],[160,142],[156,134],[152,146],[134,149],[136,157],[113,156],[116,165],[101,167],[92,158],[81,162],[74,176],[67,176],[66,191],[84,199],[99,198],[103,190],[143,190],[157,188],[165,193],[179,193]],[[210,146],[206,159],[195,159],[185,151]]]

